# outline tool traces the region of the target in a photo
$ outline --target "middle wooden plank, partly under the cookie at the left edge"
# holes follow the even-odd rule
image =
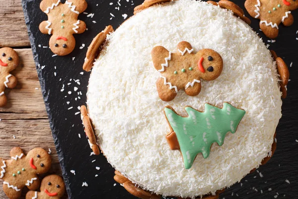
[[[31,49],[16,49],[20,64],[12,71],[18,84],[6,89],[8,102],[0,108],[0,119],[48,118]],[[21,113],[21,114],[20,114]]]

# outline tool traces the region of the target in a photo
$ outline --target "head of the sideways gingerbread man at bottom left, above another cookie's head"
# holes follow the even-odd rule
[[[51,156],[40,148],[32,149],[27,155],[29,165],[37,174],[44,174],[51,168]]]

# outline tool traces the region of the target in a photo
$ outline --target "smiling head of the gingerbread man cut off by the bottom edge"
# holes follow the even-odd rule
[[[45,177],[41,182],[40,191],[45,192],[49,197],[63,197],[65,193],[65,184],[63,178],[57,175]]]

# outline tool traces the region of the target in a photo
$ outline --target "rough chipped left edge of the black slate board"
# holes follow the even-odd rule
[[[50,108],[49,108],[49,104],[47,102],[48,93],[46,93],[46,91],[45,91],[45,82],[44,82],[44,78],[43,78],[42,73],[41,73],[41,68],[38,67],[39,61],[38,61],[38,55],[36,53],[36,46],[35,46],[35,43],[34,43],[34,37],[31,34],[31,30],[30,30],[30,20],[29,20],[29,16],[28,16],[28,13],[27,13],[27,1],[31,1],[31,0],[22,0],[22,8],[23,8],[23,12],[24,12],[25,23],[26,23],[26,26],[27,26],[30,45],[31,45],[31,48],[32,48],[33,59],[34,59],[34,62],[35,62],[35,67],[36,67],[36,70],[37,70],[37,75],[38,75],[38,79],[39,79],[43,99],[44,99],[44,102],[45,102],[46,111],[47,111],[47,114],[48,114],[50,128],[51,128],[51,131],[52,131],[52,136],[53,136],[53,139],[54,139],[54,143],[55,143],[56,151],[57,151],[57,154],[58,154],[60,167],[61,167],[61,170],[62,170],[62,175],[64,177],[66,191],[67,191],[69,199],[72,199],[72,193],[71,193],[71,189],[70,189],[70,186],[69,186],[70,182],[69,182],[69,179],[67,178],[67,172],[66,172],[65,166],[64,166],[65,162],[64,162],[64,158],[63,158],[62,151],[61,151],[61,148],[60,148],[60,143],[59,143],[59,140],[57,139],[57,136],[53,133],[54,126],[53,126],[53,123],[52,123],[52,115],[50,114]]]

